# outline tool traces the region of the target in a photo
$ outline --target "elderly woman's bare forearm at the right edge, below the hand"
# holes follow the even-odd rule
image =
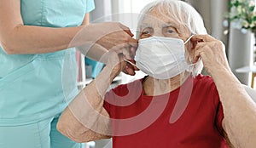
[[[256,145],[256,105],[230,70],[212,75],[224,108],[223,127],[236,148]]]

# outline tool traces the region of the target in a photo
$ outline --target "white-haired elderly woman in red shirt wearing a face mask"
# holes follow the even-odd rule
[[[182,1],[160,0],[143,9],[138,26],[136,66],[148,76],[106,93],[134,63],[129,48],[114,48],[62,113],[61,133],[79,142],[112,137],[122,148],[255,147],[256,105],[200,14]],[[199,74],[202,64],[211,77]]]

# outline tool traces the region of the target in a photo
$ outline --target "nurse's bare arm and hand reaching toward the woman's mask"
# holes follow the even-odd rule
[[[7,54],[43,54],[96,42],[109,49],[121,43],[137,43],[131,36],[129,28],[110,22],[67,28],[26,26],[20,1],[0,1],[0,44]]]

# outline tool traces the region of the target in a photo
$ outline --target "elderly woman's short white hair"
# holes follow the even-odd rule
[[[204,26],[204,22],[199,14],[189,3],[185,3],[180,0],[156,0],[153,3],[148,3],[141,11],[138,25],[137,25],[137,38],[139,38],[140,31],[142,30],[141,25],[145,16],[151,10],[157,10],[163,16],[172,17],[177,22],[189,29],[192,34],[207,34],[207,29]],[[203,68],[202,61],[198,61],[191,72],[195,77]]]

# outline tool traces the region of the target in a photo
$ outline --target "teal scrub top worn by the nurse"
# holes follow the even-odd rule
[[[80,26],[93,0],[20,0],[26,26]],[[61,38],[59,38],[61,39]],[[53,117],[78,93],[75,49],[5,54],[0,47],[0,126]]]

